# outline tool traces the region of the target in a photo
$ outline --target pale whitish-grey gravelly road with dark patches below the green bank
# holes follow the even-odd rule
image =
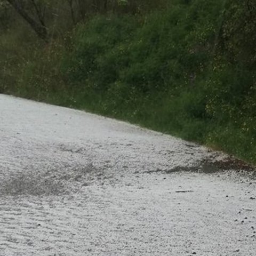
[[[0,256],[255,256],[256,176],[227,159],[0,94]]]

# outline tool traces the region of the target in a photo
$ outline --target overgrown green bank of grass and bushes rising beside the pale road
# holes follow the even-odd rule
[[[46,43],[26,23],[17,28],[10,10],[0,92],[125,119],[255,164],[256,3],[107,6],[74,5],[69,22],[68,9],[55,6],[61,19],[48,18]]]

